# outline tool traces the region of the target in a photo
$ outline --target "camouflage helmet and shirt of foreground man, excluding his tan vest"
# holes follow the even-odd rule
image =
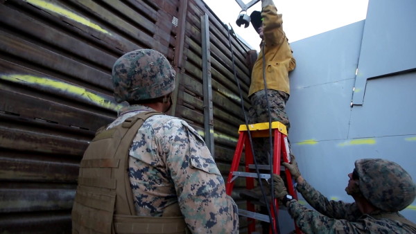
[[[123,55],[113,68],[114,97],[132,105],[108,128],[155,111],[148,103],[158,98],[171,102],[174,79],[175,71],[157,51]],[[184,120],[163,114],[144,122],[130,147],[129,177],[137,215],[160,217],[168,206],[178,204],[192,233],[238,233],[237,206],[225,193],[207,145]]]

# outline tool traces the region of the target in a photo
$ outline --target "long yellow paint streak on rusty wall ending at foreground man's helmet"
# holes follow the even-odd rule
[[[58,80],[51,80],[50,78],[42,78],[37,77],[34,75],[21,75],[21,74],[1,74],[0,78],[3,80],[8,80],[11,82],[21,83],[21,84],[33,84],[33,85],[40,85],[41,87],[46,87],[49,89],[53,89],[56,91],[71,93],[75,96],[80,96],[85,100],[89,100],[90,102],[95,103],[101,107],[105,107],[107,109],[113,109],[118,111],[123,107],[123,105],[117,105],[110,100],[102,96],[98,96],[95,93],[91,93],[85,90],[83,87],[78,87],[73,84],[67,84],[65,82],[61,82]]]

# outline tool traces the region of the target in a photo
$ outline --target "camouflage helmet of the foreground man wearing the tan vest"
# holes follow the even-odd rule
[[[175,71],[162,53],[151,49],[121,56],[112,69],[117,102],[165,96],[175,89]]]

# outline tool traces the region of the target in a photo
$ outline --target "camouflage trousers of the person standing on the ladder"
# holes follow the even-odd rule
[[[285,107],[286,102],[289,99],[288,93],[283,91],[277,91],[273,89],[267,89],[268,103],[270,105],[270,116],[272,122],[279,121],[286,125],[286,129],[289,132],[288,115],[286,114]],[[251,107],[248,111],[248,123],[268,123],[269,122],[269,109],[266,100],[266,90],[260,90],[250,96]],[[268,155],[270,151],[270,144],[268,138],[252,138],[254,154],[256,161],[259,164],[269,164]]]

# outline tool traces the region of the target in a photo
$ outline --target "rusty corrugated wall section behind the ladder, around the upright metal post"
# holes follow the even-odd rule
[[[201,17],[205,14],[209,18],[209,51],[202,51],[201,26],[203,22]],[[253,57],[255,51],[250,51],[248,46],[239,42],[236,37],[230,36],[236,77],[241,87],[239,90],[234,78],[233,57],[229,47],[227,28],[214,15],[214,12],[198,0],[189,0],[186,19],[184,54],[178,62],[181,72],[179,73],[180,84],[177,89],[175,116],[187,120],[201,136],[205,136],[202,54],[210,53],[209,75],[211,76],[214,116],[214,132],[211,134],[214,134],[214,158],[226,181],[238,141],[239,125],[244,123],[240,92],[247,112],[249,107],[247,93],[251,74],[248,67],[254,64],[257,53],[254,53]],[[246,202],[240,200],[238,195],[243,186],[245,186],[244,180],[236,180],[232,195],[240,208],[245,208],[246,205]],[[247,219],[240,217],[240,233],[246,232],[246,223]]]

